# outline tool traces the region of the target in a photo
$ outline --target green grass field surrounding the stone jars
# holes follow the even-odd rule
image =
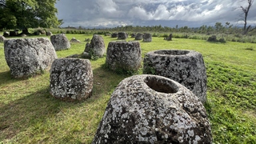
[[[58,58],[82,54],[84,39],[92,38],[83,34],[66,36],[75,37],[81,43],[72,43],[70,50],[57,51]],[[117,40],[102,37],[106,47],[108,42]],[[182,38],[167,42],[158,37],[140,44],[143,57],[151,50],[200,52],[206,64],[208,102],[205,106],[214,143],[256,143],[255,44]],[[31,78],[11,78],[0,43],[0,143],[90,143],[115,86],[129,77],[106,70],[105,59],[90,61],[94,72],[92,97],[85,102],[61,102],[49,93],[48,71]]]

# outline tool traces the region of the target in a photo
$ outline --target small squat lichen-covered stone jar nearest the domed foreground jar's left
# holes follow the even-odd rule
[[[50,69],[50,94],[67,102],[89,98],[93,71],[88,59],[55,59]]]

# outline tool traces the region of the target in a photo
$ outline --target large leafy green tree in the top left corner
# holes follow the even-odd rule
[[[0,0],[0,29],[57,27],[56,0]]]

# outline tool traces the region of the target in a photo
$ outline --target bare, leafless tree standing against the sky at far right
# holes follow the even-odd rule
[[[246,6],[246,7],[240,6],[240,8],[242,9],[242,12],[244,14],[244,16],[243,16],[243,22],[244,22],[243,34],[247,34],[249,30],[254,30],[255,29],[255,28],[251,29],[251,26],[247,27],[247,17],[248,17],[248,14],[249,14],[250,7],[254,3],[254,0],[247,0],[247,3],[248,3],[248,6]]]

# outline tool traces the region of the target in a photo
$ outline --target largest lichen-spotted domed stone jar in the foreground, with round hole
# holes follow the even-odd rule
[[[211,143],[202,102],[158,75],[134,75],[111,95],[92,143]]]

